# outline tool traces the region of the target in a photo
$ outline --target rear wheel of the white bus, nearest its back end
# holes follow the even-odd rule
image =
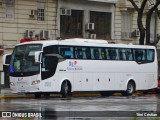
[[[127,90],[121,92],[123,96],[131,96],[135,92],[135,84],[133,81],[130,81],[127,85]]]

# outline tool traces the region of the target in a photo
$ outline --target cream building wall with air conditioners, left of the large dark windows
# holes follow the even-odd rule
[[[55,39],[56,18],[57,0],[0,0],[0,46],[4,53],[12,52],[21,39]]]

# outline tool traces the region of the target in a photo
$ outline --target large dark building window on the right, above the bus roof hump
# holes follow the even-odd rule
[[[111,13],[90,12],[90,22],[94,23],[94,30],[91,34],[96,34],[98,39],[111,39]]]

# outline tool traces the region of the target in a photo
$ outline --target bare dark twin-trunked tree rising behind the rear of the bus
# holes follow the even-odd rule
[[[144,25],[142,23],[143,18],[143,11],[146,6],[147,2],[151,2],[150,0],[142,0],[140,8],[137,6],[134,0],[129,0],[131,4],[134,6],[135,10],[138,12],[137,17],[137,25],[140,31],[140,38],[139,38],[139,44],[144,45],[144,39],[146,36],[146,44],[150,45],[150,23],[151,23],[151,16],[153,11],[157,10],[158,5],[160,4],[160,0],[155,0],[155,4],[152,5],[152,7],[148,10],[147,16],[146,16],[146,29],[144,28]],[[157,10],[158,11],[158,10]],[[145,34],[146,33],[146,34]],[[157,43],[157,41],[156,41]],[[156,44],[154,43],[154,44]],[[153,44],[153,43],[152,43]]]

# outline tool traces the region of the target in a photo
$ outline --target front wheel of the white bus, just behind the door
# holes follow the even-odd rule
[[[70,85],[69,85],[69,82],[65,81],[62,83],[62,86],[61,86],[61,95],[63,98],[66,98],[71,92],[71,88],[70,88]]]

